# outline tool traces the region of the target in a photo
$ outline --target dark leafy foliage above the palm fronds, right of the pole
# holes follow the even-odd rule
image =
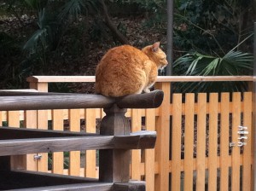
[[[204,54],[224,55],[226,49],[232,49],[252,32],[252,27],[247,26],[252,3],[251,0],[176,1],[175,45]]]

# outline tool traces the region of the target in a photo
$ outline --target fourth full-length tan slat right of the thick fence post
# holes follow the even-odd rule
[[[217,149],[218,149],[218,94],[210,94],[209,102],[209,157],[208,190],[217,190]]]

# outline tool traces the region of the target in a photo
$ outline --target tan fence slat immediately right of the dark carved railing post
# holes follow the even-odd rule
[[[142,111],[141,109],[131,110],[131,131],[137,132],[142,130]],[[141,179],[141,150],[131,151],[131,178],[135,180]]]

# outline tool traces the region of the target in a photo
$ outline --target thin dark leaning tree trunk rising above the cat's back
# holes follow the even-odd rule
[[[113,25],[113,22],[110,20],[108,15],[108,8],[104,0],[100,0],[100,3],[102,4],[102,14],[104,16],[105,22],[109,30],[113,33],[113,37],[117,38],[120,43],[130,44],[127,38],[125,38],[125,36],[121,32],[119,32],[119,30],[116,28],[116,26]]]

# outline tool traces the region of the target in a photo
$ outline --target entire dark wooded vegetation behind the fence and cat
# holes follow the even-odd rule
[[[94,75],[108,49],[166,49],[165,0],[0,0],[0,89],[27,88],[32,75]],[[175,0],[173,75],[250,75],[253,72],[253,0]],[[164,74],[163,74],[164,75]],[[211,84],[211,90],[246,90]],[[235,87],[235,88],[234,88]],[[177,91],[209,90],[177,84]],[[93,92],[57,84],[55,91]]]

